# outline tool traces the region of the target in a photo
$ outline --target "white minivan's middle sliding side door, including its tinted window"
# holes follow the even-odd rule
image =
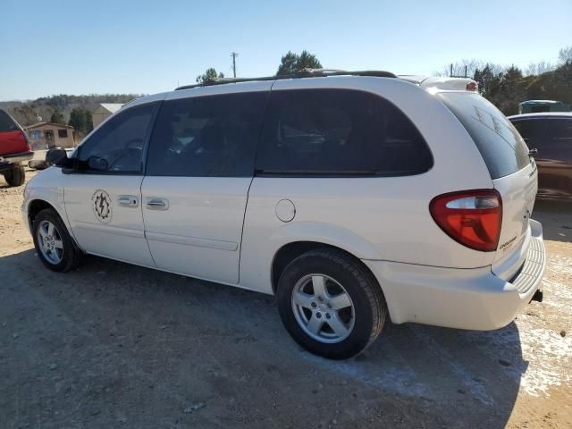
[[[255,148],[272,82],[176,91],[158,114],[142,185],[147,242],[164,270],[238,283]]]

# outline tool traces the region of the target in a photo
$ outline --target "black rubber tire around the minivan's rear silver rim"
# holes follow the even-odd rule
[[[323,274],[325,278],[329,277],[325,284],[331,286],[326,286],[325,295],[329,293],[328,288],[331,288],[332,285],[336,288],[335,282],[338,282],[351,300],[353,328],[348,329],[350,333],[347,338],[338,337],[340,338],[338,342],[324,342],[315,339],[299,323],[300,316],[297,313],[301,314],[301,312],[295,308],[292,293],[295,288],[296,290],[299,289],[300,284],[304,284],[304,279],[307,279],[309,274],[313,273]],[[310,282],[313,282],[313,278]],[[276,297],[282,323],[292,338],[315,355],[331,359],[353,357],[365,350],[382,331],[387,315],[387,304],[383,298],[383,292],[373,275],[357,259],[330,248],[309,251],[286,266],[278,282]],[[315,302],[312,302],[312,306],[314,305]],[[323,303],[319,305],[324,307]],[[299,307],[299,309],[302,308]],[[304,308],[303,310],[306,314],[308,311],[310,312],[309,320],[309,318],[319,315],[315,311],[320,311],[320,308],[308,310]],[[332,310],[323,309],[322,311]],[[331,317],[331,315],[327,315],[328,318]],[[327,321],[322,321],[321,326],[324,324],[328,324]],[[351,323],[348,322],[347,325],[350,326]],[[322,331],[318,335],[330,328],[326,326],[320,329]],[[324,334],[327,335],[328,333],[325,332]],[[335,335],[333,330],[332,334]],[[334,339],[334,341],[336,340]]]

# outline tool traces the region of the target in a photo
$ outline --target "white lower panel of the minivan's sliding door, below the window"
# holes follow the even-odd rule
[[[151,254],[166,271],[239,282],[240,236],[251,178],[146,177],[143,216]],[[149,210],[147,198],[166,198]]]

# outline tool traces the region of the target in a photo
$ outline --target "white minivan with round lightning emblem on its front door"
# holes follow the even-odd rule
[[[91,254],[275,294],[324,357],[366,349],[388,314],[500,328],[539,296],[536,166],[454,83],[315,71],[142,97],[48,153],[23,217],[54,271]]]

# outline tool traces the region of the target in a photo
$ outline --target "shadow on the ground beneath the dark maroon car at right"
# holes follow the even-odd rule
[[[544,240],[572,241],[572,204],[536,200],[532,217],[543,224]]]

